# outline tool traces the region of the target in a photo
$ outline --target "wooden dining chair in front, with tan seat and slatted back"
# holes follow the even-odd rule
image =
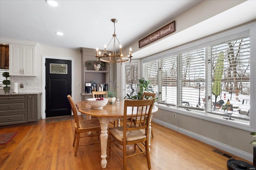
[[[149,123],[150,116],[152,113],[152,108],[155,100],[124,100],[124,126],[113,127],[108,131],[108,147],[109,155],[111,158],[111,143],[122,145],[123,150],[123,163],[124,170],[126,170],[127,158],[130,156],[135,156],[138,154],[144,154],[147,159],[148,169],[151,169],[150,156],[149,156]],[[134,125],[132,121],[127,122],[127,113],[132,115],[132,118],[137,119],[138,117],[146,117],[145,119],[138,119],[137,124]],[[127,124],[128,123],[128,124]],[[112,140],[113,139],[113,140]],[[141,146],[138,144],[142,143]],[[136,152],[136,147],[139,148],[140,152],[135,154],[128,154],[126,152],[126,145],[134,145],[134,152]],[[142,147],[145,148],[142,150]],[[118,149],[121,149],[117,146]],[[118,154],[116,154],[119,156]],[[121,158],[121,156],[119,156]]]

